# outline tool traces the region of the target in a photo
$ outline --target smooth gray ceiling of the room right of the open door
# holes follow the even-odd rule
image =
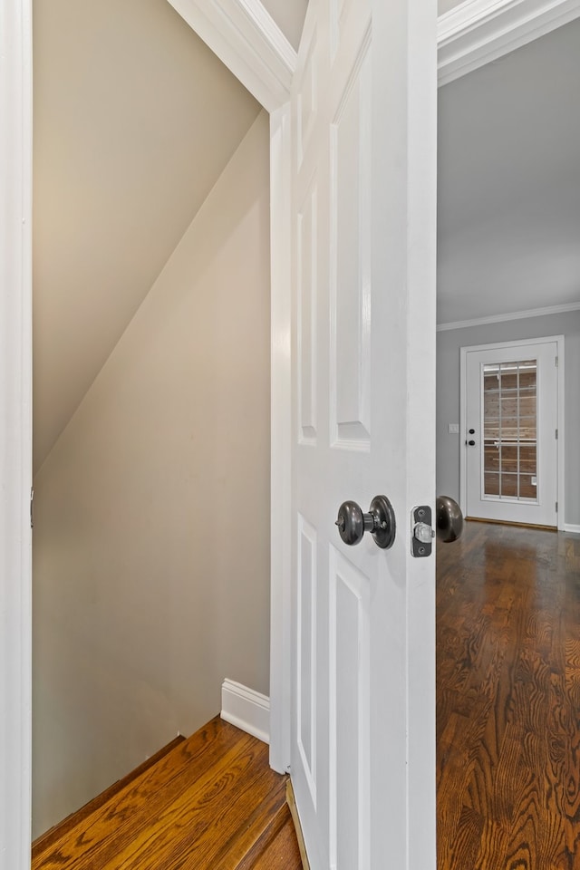
[[[580,303],[580,20],[439,97],[438,322]]]

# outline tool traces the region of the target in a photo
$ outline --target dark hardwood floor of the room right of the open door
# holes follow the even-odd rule
[[[437,553],[439,870],[580,870],[580,536]]]

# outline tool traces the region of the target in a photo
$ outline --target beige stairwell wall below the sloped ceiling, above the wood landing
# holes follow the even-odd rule
[[[35,478],[34,836],[268,692],[262,112]]]

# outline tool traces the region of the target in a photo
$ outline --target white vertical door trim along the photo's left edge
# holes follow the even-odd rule
[[[0,865],[30,867],[32,8],[0,26]]]

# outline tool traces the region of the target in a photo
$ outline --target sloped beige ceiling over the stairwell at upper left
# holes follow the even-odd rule
[[[167,0],[33,14],[35,473],[260,107]]]

